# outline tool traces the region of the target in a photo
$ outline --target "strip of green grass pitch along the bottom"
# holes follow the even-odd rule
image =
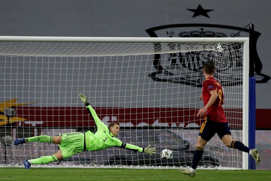
[[[197,170],[194,178],[177,169],[104,169],[104,168],[0,168],[0,180],[14,181],[109,181],[109,180],[238,180],[268,181],[271,170]]]

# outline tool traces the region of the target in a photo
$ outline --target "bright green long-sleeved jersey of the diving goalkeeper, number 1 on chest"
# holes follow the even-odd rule
[[[86,109],[89,111],[89,114],[92,116],[92,119],[97,126],[97,131],[95,133],[87,131],[85,133],[86,139],[86,150],[87,151],[98,151],[113,146],[120,148],[125,148],[132,151],[144,152],[144,148],[140,148],[133,144],[126,144],[116,138],[105,125],[98,118],[95,110],[90,106],[89,103],[86,103]]]

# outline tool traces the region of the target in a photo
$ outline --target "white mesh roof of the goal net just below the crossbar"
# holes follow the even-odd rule
[[[202,50],[232,52],[235,46],[238,43],[0,42],[0,55],[129,56]]]

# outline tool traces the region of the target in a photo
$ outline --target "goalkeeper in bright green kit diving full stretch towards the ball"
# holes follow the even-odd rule
[[[83,94],[79,94],[79,98],[86,105],[86,109],[89,111],[89,114],[92,116],[92,119],[97,126],[97,132],[93,133],[87,131],[86,133],[66,133],[60,134],[59,136],[34,136],[31,138],[20,138],[14,141],[15,145],[24,144],[27,142],[48,142],[54,144],[60,144],[59,151],[51,156],[43,156],[37,159],[32,160],[24,160],[23,164],[26,169],[31,167],[31,164],[47,164],[51,162],[55,162],[58,160],[67,159],[77,153],[81,153],[82,151],[98,151],[106,148],[110,148],[113,146],[117,146],[119,148],[125,148],[132,151],[139,151],[147,154],[154,154],[156,149],[151,148],[149,145],[146,148],[140,148],[138,146],[123,143],[115,136],[118,135],[120,131],[119,123],[110,123],[109,126],[105,125],[98,118],[95,110],[90,106],[87,102],[87,97]]]

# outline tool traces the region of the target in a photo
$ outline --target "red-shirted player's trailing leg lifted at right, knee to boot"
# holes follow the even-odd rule
[[[244,145],[243,143],[241,143],[240,141],[233,141],[231,135],[228,135],[228,134],[224,135],[221,138],[221,140],[229,148],[235,148],[235,149],[238,149],[240,151],[244,151],[244,152],[249,153],[254,158],[254,160],[256,161],[257,165],[260,165],[261,159],[260,159],[260,156],[259,156],[259,154],[257,152],[257,149],[250,149],[246,145]]]

